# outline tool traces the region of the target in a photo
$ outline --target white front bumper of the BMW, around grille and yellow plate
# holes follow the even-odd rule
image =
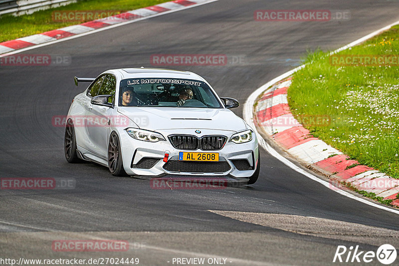
[[[256,169],[259,151],[255,134],[253,134],[251,141],[236,144],[228,142],[231,135],[235,132],[201,129],[201,134],[198,134],[198,137],[203,135],[225,135],[228,137],[221,149],[205,151],[200,149],[182,150],[175,148],[169,141],[168,135],[176,134],[176,130],[157,132],[162,133],[166,141],[148,142],[137,140],[131,137],[126,131],[120,131],[122,160],[127,174],[139,178],[176,179],[179,176],[180,178],[183,178],[183,176],[196,176],[202,178],[210,177],[215,180],[231,179],[231,181],[245,181],[248,180]],[[193,129],[179,130],[179,134],[192,135],[193,132]],[[181,151],[218,152],[219,162],[179,161],[179,152]],[[164,162],[163,160],[165,153],[169,153],[168,162]]]

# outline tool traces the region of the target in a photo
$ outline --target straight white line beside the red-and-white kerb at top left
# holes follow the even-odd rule
[[[164,15],[164,14],[169,14],[169,13],[177,12],[177,11],[180,11],[180,10],[183,10],[183,9],[197,7],[197,6],[200,6],[200,5],[203,5],[203,4],[207,4],[207,3],[211,3],[211,2],[215,2],[215,1],[218,1],[218,0],[206,0],[204,2],[197,2],[196,4],[188,5],[188,6],[182,5],[182,7],[177,8],[177,9],[164,11],[164,12],[160,12],[160,13],[157,13],[157,14],[141,17],[141,18],[136,18],[134,20],[129,20],[129,21],[126,21],[126,22],[121,22],[121,23],[110,25],[110,26],[106,26],[106,27],[103,27],[103,28],[94,29],[94,30],[91,30],[91,31],[88,31],[88,32],[84,32],[84,33],[78,34],[78,35],[73,35],[73,36],[62,38],[62,39],[54,40],[54,41],[51,41],[51,42],[45,42],[45,43],[42,43],[42,44],[37,44],[37,45],[34,45],[34,46],[30,46],[30,47],[14,50],[12,52],[8,52],[8,53],[5,53],[5,54],[0,54],[0,57],[8,56],[8,55],[11,55],[11,54],[17,54],[17,53],[20,53],[20,52],[24,52],[24,51],[36,49],[36,48],[39,48],[39,47],[51,45],[51,44],[58,43],[58,42],[61,42],[61,41],[67,41],[67,40],[83,37],[83,36],[86,36],[86,35],[89,35],[89,34],[93,34],[93,33],[99,32],[99,31],[103,31],[103,30],[107,30],[107,29],[111,29],[111,28],[116,28],[116,27],[123,26],[123,25],[126,25],[126,24],[130,24],[130,23],[134,23],[134,22],[137,22],[137,21],[141,21],[141,20],[144,20],[144,19],[147,19],[147,18],[152,18],[152,17]],[[138,9],[136,9],[136,10],[138,10]],[[132,11],[136,11],[136,10],[132,10]]]

